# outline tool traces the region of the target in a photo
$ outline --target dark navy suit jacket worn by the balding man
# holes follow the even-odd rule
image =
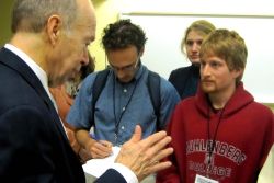
[[[84,182],[82,167],[41,81],[5,48],[0,49],[0,182]],[[105,182],[114,176],[124,180],[116,171],[109,172],[103,175]]]

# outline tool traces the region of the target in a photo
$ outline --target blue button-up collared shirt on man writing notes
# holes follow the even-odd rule
[[[148,69],[140,65],[133,81],[121,83],[111,70],[94,110],[92,108],[92,88],[96,72],[91,73],[83,81],[70,108],[68,123],[76,128],[88,130],[94,126],[95,138],[111,141],[114,146],[121,146],[130,139],[137,124],[142,128],[142,138],[153,134],[157,127],[157,116],[147,88],[148,72]],[[163,78],[160,81],[160,95],[159,121],[163,129],[180,96],[173,85]],[[90,123],[93,113],[94,125]]]

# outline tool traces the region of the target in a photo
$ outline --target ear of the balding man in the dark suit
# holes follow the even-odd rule
[[[58,42],[61,30],[61,20],[59,15],[52,15],[47,20],[46,33],[52,45]]]

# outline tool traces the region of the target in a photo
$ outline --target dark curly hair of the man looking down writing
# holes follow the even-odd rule
[[[140,26],[133,24],[130,20],[119,20],[104,28],[102,45],[106,52],[136,46],[139,53],[146,41],[146,34]]]

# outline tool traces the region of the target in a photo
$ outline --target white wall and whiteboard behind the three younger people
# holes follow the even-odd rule
[[[193,21],[205,19],[216,27],[237,31],[246,39],[249,56],[244,87],[256,101],[274,103],[274,15],[271,14],[271,5],[250,2],[246,5],[247,1],[239,4],[233,0],[227,4],[214,0],[191,0],[185,3],[151,1],[128,2],[128,9],[121,13],[122,19],[129,18],[145,30],[148,43],[142,62],[149,69],[168,78],[171,70],[187,66],[186,58],[180,52],[180,42]]]

